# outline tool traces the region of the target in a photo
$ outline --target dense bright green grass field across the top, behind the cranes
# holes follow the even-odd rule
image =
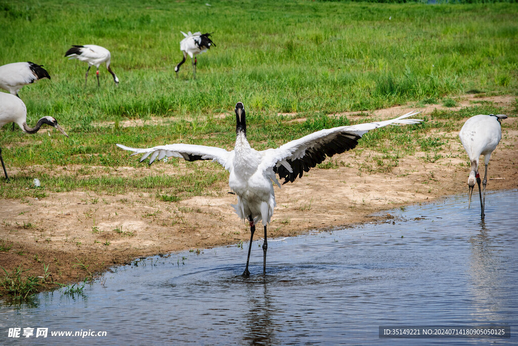
[[[243,101],[254,111],[370,110],[470,88],[518,86],[517,5],[314,3],[309,1],[7,1],[0,7],[0,63],[45,64],[52,81],[20,93],[34,115],[202,114]],[[484,23],[481,25],[480,23]],[[214,32],[198,80],[180,61],[181,31]],[[112,52],[120,77],[102,87],[70,44]]]

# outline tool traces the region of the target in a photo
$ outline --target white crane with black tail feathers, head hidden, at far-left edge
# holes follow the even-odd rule
[[[18,97],[20,97],[18,91],[24,85],[44,78],[50,79],[49,72],[43,68],[43,65],[30,61],[0,66],[0,88]],[[12,123],[12,130],[15,130],[15,123]]]

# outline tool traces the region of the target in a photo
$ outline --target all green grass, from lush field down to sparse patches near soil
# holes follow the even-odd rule
[[[257,149],[296,139],[326,127],[349,125],[329,113],[369,111],[406,102],[444,103],[467,92],[518,90],[518,5],[375,4],[355,2],[101,2],[4,1],[0,4],[0,65],[44,64],[52,80],[20,91],[30,124],[54,116],[68,132],[32,136],[8,126],[0,130],[8,172],[1,198],[45,198],[48,191],[74,189],[117,194],[149,190],[176,202],[203,194],[227,173],[211,162],[187,163],[188,171],[134,178],[110,173],[120,166],[145,167],[115,146],[148,147],[184,142],[231,148],[237,101],[247,109],[248,138]],[[480,25],[484,23],[484,25]],[[190,64],[179,78],[180,31],[214,32],[216,47],[198,56],[197,80]],[[104,67],[101,87],[87,65],[63,55],[71,44],[95,43],[112,53],[115,86]],[[442,100],[442,101],[440,101]],[[453,101],[455,102],[455,101]],[[231,112],[226,117],[215,116]],[[303,123],[278,112],[301,112]],[[435,112],[428,123],[368,133],[358,148],[380,151],[397,164],[432,128],[453,126],[436,119],[460,119],[473,112],[496,113],[491,104],[458,112]],[[164,118],[164,124],[122,127],[127,119]],[[365,117],[364,121],[372,121]],[[96,126],[102,122],[112,125]],[[412,145],[407,145],[411,143]],[[393,147],[392,149],[387,149]],[[397,152],[397,153],[396,153]],[[162,164],[162,163],[160,163]],[[178,165],[177,160],[167,164]],[[71,174],[63,167],[96,167]],[[322,168],[337,166],[331,161]],[[210,170],[207,170],[207,167]],[[103,172],[102,169],[106,169]],[[85,170],[86,171],[86,170]],[[42,187],[32,187],[35,172]],[[84,172],[83,172],[84,173]],[[87,172],[88,173],[88,172]],[[195,182],[191,184],[190,182]],[[25,189],[30,187],[29,189]]]

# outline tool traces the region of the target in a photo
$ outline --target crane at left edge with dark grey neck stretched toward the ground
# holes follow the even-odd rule
[[[68,134],[65,133],[61,126],[57,125],[56,119],[51,116],[44,116],[38,120],[35,127],[28,127],[25,103],[14,95],[0,93],[0,128],[11,122],[18,124],[25,133],[36,133],[39,131],[41,125],[47,124],[60,130],[61,133],[68,137]],[[7,175],[4,159],[2,157],[2,148],[0,148],[0,162],[2,162],[5,178],[9,181],[9,176]]]

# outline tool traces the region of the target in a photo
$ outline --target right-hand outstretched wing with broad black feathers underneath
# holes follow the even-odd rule
[[[341,154],[354,148],[358,140],[369,130],[387,125],[419,124],[422,122],[421,119],[407,119],[419,113],[410,112],[382,122],[340,126],[313,132],[276,149],[263,151],[260,168],[273,168],[279,178],[284,179],[283,184],[293,183],[297,176],[301,177],[304,172],[324,161],[326,156]]]

